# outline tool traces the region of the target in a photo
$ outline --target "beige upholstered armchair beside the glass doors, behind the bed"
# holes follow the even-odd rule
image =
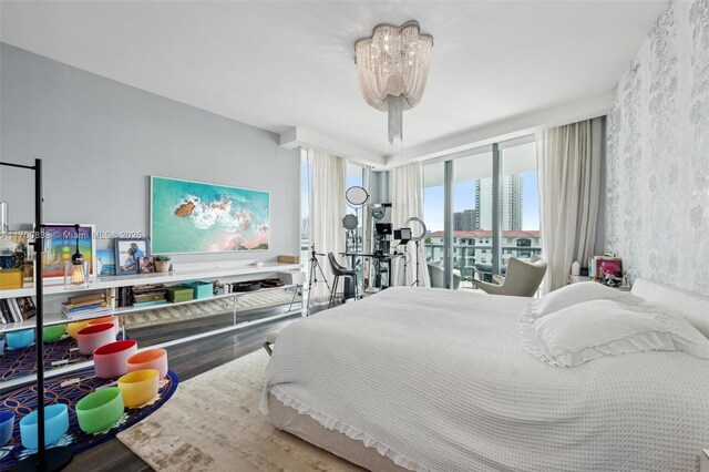
[[[473,285],[487,294],[533,297],[546,275],[546,260],[534,255],[528,263],[511,257],[505,277],[494,275],[499,284],[473,280]]]

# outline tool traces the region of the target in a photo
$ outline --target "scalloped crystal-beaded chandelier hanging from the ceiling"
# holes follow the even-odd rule
[[[389,114],[389,143],[402,138],[403,111],[423,96],[433,37],[421,34],[417,21],[380,24],[354,43],[359,85],[367,103]]]

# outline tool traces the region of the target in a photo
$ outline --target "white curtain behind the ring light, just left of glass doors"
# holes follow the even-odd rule
[[[421,163],[411,163],[400,167],[394,167],[391,185],[391,223],[394,228],[403,227],[407,219],[412,216],[421,218],[423,222],[423,168]],[[414,236],[419,233],[419,227],[412,228]],[[407,246],[410,255],[407,267],[405,281],[411,285],[417,279],[417,255],[415,244],[409,243]],[[403,260],[394,259],[397,267],[397,285],[403,285],[404,271]],[[425,245],[423,239],[419,246],[419,286],[430,287],[429,270],[425,264]]]

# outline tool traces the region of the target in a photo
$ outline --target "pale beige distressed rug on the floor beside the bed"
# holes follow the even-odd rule
[[[260,349],[187,380],[164,408],[117,438],[156,471],[361,471],[260,414],[267,365]]]

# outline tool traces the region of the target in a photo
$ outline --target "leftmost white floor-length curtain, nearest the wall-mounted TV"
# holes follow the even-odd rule
[[[318,263],[329,284],[332,283],[332,271],[327,254],[332,252],[339,258],[345,252],[345,172],[347,163],[343,158],[331,156],[319,151],[308,150],[310,167],[310,245],[319,254]],[[310,267],[308,267],[310,270]],[[320,273],[318,283],[312,285],[310,300],[327,301],[329,293]]]

